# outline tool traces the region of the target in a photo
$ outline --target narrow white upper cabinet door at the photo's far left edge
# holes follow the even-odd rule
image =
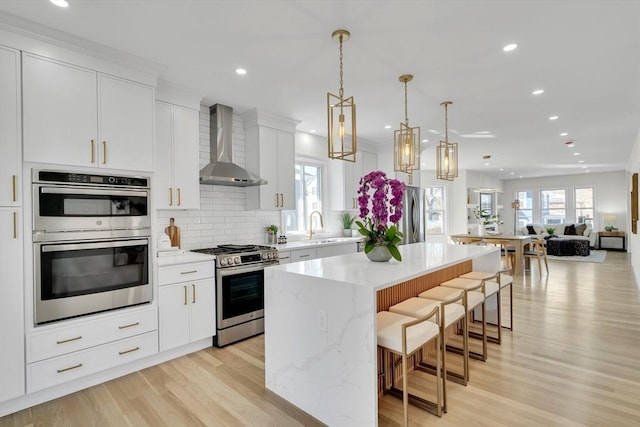
[[[20,52],[0,46],[0,206],[20,206]]]

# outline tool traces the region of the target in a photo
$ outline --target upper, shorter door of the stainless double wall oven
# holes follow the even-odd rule
[[[114,230],[144,229],[149,234],[147,189],[34,184],[33,204],[34,240],[75,239],[70,232],[86,231],[102,231],[101,237],[114,236]]]

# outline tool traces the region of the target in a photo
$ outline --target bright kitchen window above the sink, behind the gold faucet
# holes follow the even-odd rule
[[[308,220],[311,212],[322,212],[323,173],[324,166],[322,163],[311,160],[296,160],[296,208],[283,211],[285,232],[306,232],[309,227]],[[313,221],[313,229],[319,229],[320,218],[314,215]]]

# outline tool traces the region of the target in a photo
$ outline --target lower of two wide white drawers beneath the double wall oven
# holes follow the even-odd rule
[[[27,393],[75,380],[158,352],[158,332],[27,365]]]

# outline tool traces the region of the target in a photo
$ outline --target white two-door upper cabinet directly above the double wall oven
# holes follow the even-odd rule
[[[153,170],[153,87],[22,55],[24,160]]]

